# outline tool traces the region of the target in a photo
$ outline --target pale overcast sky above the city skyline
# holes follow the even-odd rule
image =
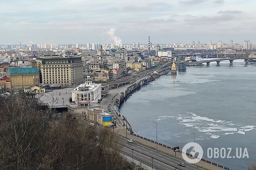
[[[255,42],[256,0],[4,0],[0,44]]]

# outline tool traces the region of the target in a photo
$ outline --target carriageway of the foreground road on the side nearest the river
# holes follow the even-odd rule
[[[130,144],[124,138],[121,141],[122,141],[122,144],[124,144],[126,147],[136,149],[139,152],[148,154],[148,155],[153,156],[153,157],[157,157],[157,158],[161,159],[161,161],[165,161],[165,162],[171,161],[171,162],[177,163],[177,164],[182,162],[182,163],[186,164],[186,166],[188,167],[189,170],[195,170],[195,169],[202,170],[201,168],[198,168],[198,167],[196,167],[196,166],[194,166],[192,164],[189,164],[189,163],[187,163],[185,161],[176,159],[176,158],[174,158],[172,156],[169,156],[167,154],[163,154],[161,152],[158,152],[157,150],[153,150],[151,148],[145,147],[145,146],[143,146],[141,144],[138,144],[137,142],[134,142],[134,143]]]

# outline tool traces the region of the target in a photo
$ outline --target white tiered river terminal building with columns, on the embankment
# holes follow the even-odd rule
[[[90,101],[90,103],[98,103],[101,99],[101,84],[86,81],[84,84],[78,85],[72,91],[72,101]]]

